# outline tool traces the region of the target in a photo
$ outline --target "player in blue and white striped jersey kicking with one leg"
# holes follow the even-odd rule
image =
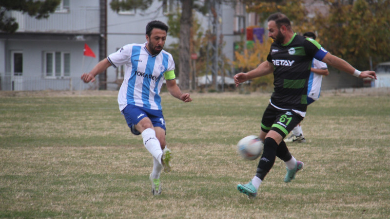
[[[119,110],[133,134],[142,134],[143,144],[153,156],[153,195],[161,194],[159,180],[162,167],[171,170],[171,150],[165,142],[165,120],[162,114],[161,86],[166,80],[168,91],[183,102],[191,102],[189,93],[182,93],[176,84],[175,63],[172,55],[163,50],[168,26],[161,21],[151,21],[146,26],[144,44],[128,44],[116,53],[101,60],[89,73],[81,75],[88,83],[108,67],[125,66],[123,83],[118,92]]]

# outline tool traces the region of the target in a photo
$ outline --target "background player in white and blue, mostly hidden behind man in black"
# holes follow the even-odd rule
[[[303,34],[303,36],[312,39],[316,38],[313,32],[306,32],[305,34]],[[308,105],[320,98],[322,75],[329,75],[327,64],[325,62],[313,58],[312,69],[310,72],[308,83]],[[284,140],[285,142],[306,142],[306,139],[303,136],[301,123],[299,123],[295,128],[293,128],[291,132],[291,135]]]

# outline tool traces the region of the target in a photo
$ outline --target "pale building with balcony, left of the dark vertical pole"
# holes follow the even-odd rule
[[[0,33],[0,90],[79,89],[84,43],[98,52],[99,1],[62,0],[48,19],[10,14],[19,29]]]

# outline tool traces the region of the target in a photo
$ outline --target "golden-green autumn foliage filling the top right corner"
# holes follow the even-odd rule
[[[260,20],[274,12],[286,14],[298,34],[317,33],[318,41],[358,69],[372,62],[390,60],[390,0],[319,0],[326,12],[315,11],[308,18],[304,0],[242,0],[248,12]]]

